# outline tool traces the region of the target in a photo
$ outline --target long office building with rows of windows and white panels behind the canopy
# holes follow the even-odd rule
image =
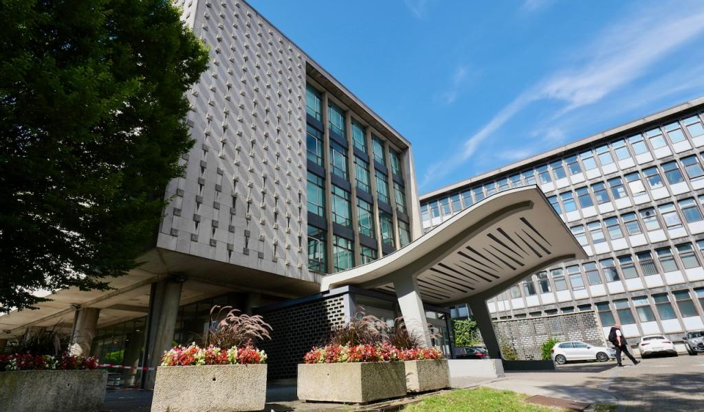
[[[486,196],[538,185],[588,259],[489,300],[495,319],[596,310],[605,332],[704,328],[704,98],[421,196],[424,231]],[[467,307],[453,309],[467,316]]]

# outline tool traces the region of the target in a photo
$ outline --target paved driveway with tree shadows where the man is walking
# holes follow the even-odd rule
[[[554,372],[507,373],[484,386],[597,404],[617,411],[704,411],[704,356],[680,355],[624,361],[572,363]]]

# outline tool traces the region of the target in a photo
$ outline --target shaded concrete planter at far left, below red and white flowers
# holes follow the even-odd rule
[[[0,372],[0,411],[99,411],[108,371]]]

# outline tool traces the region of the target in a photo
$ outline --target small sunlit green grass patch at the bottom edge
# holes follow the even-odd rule
[[[454,390],[445,394],[426,397],[417,404],[409,405],[408,412],[556,412],[562,409],[528,404],[527,395],[508,390],[493,390],[486,387]]]

